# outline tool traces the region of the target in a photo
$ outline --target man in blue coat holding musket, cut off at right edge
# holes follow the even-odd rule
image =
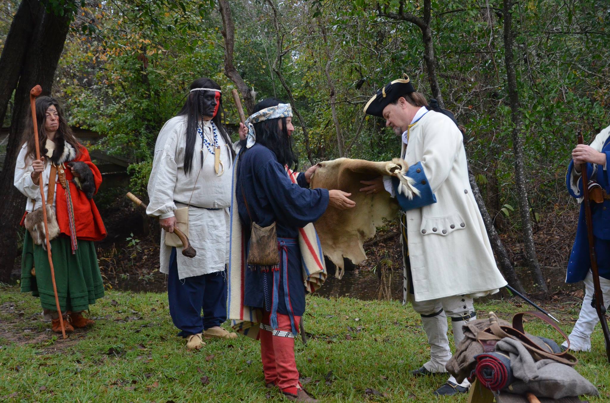
[[[565,282],[584,280],[585,294],[583,307],[578,321],[570,333],[570,349],[573,351],[590,351],[591,334],[599,318],[595,307],[591,305],[594,296],[593,275],[590,270],[589,239],[584,217],[583,180],[580,164],[586,164],[589,174],[589,192],[591,199],[591,216],[597,267],[600,274],[600,286],[603,300],[610,303],[610,126],[602,130],[591,145],[579,144],[572,151],[572,162],[565,178],[568,192],[581,203],[578,216],[576,239],[570,254]],[[562,345],[567,347],[567,342]]]

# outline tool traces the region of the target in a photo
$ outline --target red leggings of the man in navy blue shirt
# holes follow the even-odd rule
[[[263,310],[263,324],[269,324],[271,313]],[[295,316],[295,324],[301,320]],[[298,325],[297,325],[298,326]],[[290,317],[278,312],[278,330],[290,332]],[[260,329],[260,358],[263,362],[265,383],[272,382],[280,390],[296,394],[299,386],[299,371],[295,362],[295,339],[274,336],[270,331]]]

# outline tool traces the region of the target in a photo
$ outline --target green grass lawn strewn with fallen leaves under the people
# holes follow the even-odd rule
[[[476,304],[481,317],[493,310],[510,320],[527,310],[517,300]],[[577,303],[553,309],[565,331],[578,316]],[[285,401],[264,387],[259,343],[246,337],[212,340],[188,352],[171,323],[163,293],[107,292],[91,306],[95,326],[68,341],[50,331],[38,299],[16,287],[0,288],[0,401],[24,402],[263,402]],[[398,302],[307,297],[306,331],[296,342],[296,363],[306,385],[323,402],[466,402],[436,398],[444,376],[415,378],[409,370],[429,357],[418,315]],[[531,321],[526,329],[553,337]],[[576,353],[576,369],[600,390],[590,402],[610,401],[610,365],[601,329],[591,353]],[[202,381],[203,379],[203,381]]]

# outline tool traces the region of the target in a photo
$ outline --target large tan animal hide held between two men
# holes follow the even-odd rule
[[[371,180],[381,175],[397,177],[398,191],[407,198],[419,195],[412,186],[413,180],[404,175],[409,166],[400,158],[392,161],[371,162],[364,159],[339,158],[318,164],[310,187],[339,189],[351,193],[356,207],[339,210],[332,206],[314,223],[324,254],[339,268],[337,277],[343,276],[343,258],[359,264],[367,258],[362,245],[373,237],[383,219],[393,219],[398,213],[398,202],[386,191],[367,195],[360,189],[367,185],[361,180]]]

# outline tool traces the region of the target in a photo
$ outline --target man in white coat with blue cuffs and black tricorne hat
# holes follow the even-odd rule
[[[462,326],[476,318],[473,298],[506,286],[493,258],[481,213],[472,195],[463,136],[453,114],[435,101],[428,108],[409,77],[379,89],[364,112],[386,119],[402,140],[406,176],[415,180],[419,196],[407,199],[396,178],[363,181],[364,192],[389,191],[401,206],[404,300],[421,315],[431,357],[415,376],[445,373],[451,358],[447,316],[454,344],[464,338]],[[465,393],[470,384],[451,376],[434,394]]]

